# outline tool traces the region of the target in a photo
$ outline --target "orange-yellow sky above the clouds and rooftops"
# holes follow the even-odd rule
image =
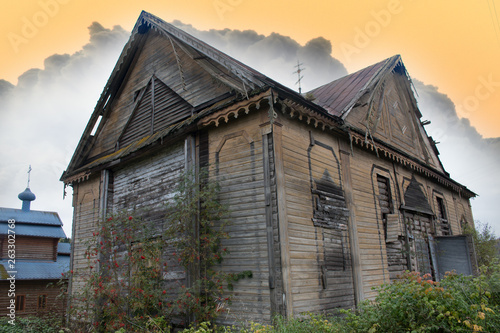
[[[78,51],[93,21],[131,30],[141,10],[201,30],[278,32],[301,44],[323,36],[349,72],[401,54],[412,77],[438,86],[484,137],[500,137],[498,0],[4,0],[0,79],[16,84],[48,56]]]

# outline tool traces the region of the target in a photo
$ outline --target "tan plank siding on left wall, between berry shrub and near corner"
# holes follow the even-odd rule
[[[230,254],[221,269],[232,273],[249,270],[253,274],[235,284],[230,311],[218,319],[222,324],[250,320],[269,323],[273,311],[270,286],[275,282],[270,281],[265,183],[272,184],[274,175],[265,181],[265,147],[259,125],[260,117],[249,115],[231,126],[209,131],[210,164],[221,186],[221,201],[230,211],[230,238],[222,241]],[[275,200],[272,197],[274,205]],[[275,210],[271,214],[275,216]]]

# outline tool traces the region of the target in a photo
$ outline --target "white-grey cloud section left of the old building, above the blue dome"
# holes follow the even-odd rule
[[[0,206],[21,208],[17,195],[27,184],[34,210],[56,211],[68,237],[71,196],[59,181],[111,70],[129,37],[119,26],[89,27],[90,40],[74,54],[54,54],[44,68],[27,70],[16,85],[0,80]],[[69,190],[71,195],[71,190]]]

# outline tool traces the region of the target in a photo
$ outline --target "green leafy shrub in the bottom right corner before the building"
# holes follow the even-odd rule
[[[491,303],[489,278],[447,274],[440,282],[429,275],[406,273],[376,288],[375,301],[346,311],[352,332],[498,332],[498,304]]]

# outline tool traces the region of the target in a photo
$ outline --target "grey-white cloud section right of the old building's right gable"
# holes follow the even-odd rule
[[[472,200],[475,219],[487,222],[500,233],[500,138],[483,138],[469,119],[460,118],[447,95],[432,85],[413,80],[423,119],[431,120],[427,133],[439,141],[440,159],[451,177],[479,197]]]

